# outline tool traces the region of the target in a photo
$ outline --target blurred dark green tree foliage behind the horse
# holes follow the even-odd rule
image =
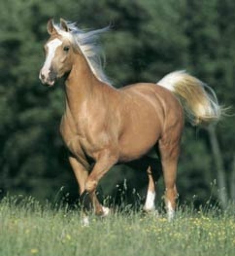
[[[234,104],[233,0],[2,1],[0,188],[9,193],[53,199],[55,191],[65,186],[65,193],[76,198],[77,185],[58,131],[64,109],[63,83],[48,89],[38,79],[50,17],[77,21],[82,28],[110,24],[111,31],[101,41],[107,74],[116,87],[156,82],[173,70],[186,69],[208,82],[222,104]],[[234,116],[225,117],[217,127],[228,187],[235,152],[234,124]],[[207,200],[210,184],[217,179],[213,160],[207,132],[187,126],[178,173],[182,201],[194,194],[198,205]],[[138,176],[137,170],[123,166],[112,172],[112,182],[122,184],[126,178],[130,191],[137,186],[130,180],[141,177],[137,192],[144,195],[147,180],[143,172]],[[103,188],[108,187],[108,179],[102,181]],[[216,196],[213,192],[214,200]]]

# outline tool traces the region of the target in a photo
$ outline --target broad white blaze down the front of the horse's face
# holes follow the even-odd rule
[[[60,45],[62,45],[62,41],[58,38],[55,38],[47,43],[48,54],[44,66],[41,70],[41,74],[45,76],[46,80],[49,76],[51,61],[55,56],[55,51],[57,47]]]

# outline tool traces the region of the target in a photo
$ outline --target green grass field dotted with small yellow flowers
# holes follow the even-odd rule
[[[32,198],[0,203],[0,256],[234,256],[233,209],[179,209],[174,221],[140,212],[91,216],[52,210]]]

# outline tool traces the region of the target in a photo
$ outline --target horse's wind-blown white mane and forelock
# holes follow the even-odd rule
[[[97,42],[99,35],[108,31],[109,26],[101,29],[85,31],[78,28],[75,23],[66,21],[66,24],[69,28],[68,32],[66,32],[60,24],[53,23],[56,31],[60,35],[69,39],[75,47],[80,49],[95,77],[104,83],[111,84],[111,81],[103,71],[105,55]]]

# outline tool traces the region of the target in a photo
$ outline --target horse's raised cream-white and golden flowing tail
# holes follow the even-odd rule
[[[185,71],[175,71],[158,83],[181,102],[192,125],[209,125],[221,117],[221,107],[213,89]]]

